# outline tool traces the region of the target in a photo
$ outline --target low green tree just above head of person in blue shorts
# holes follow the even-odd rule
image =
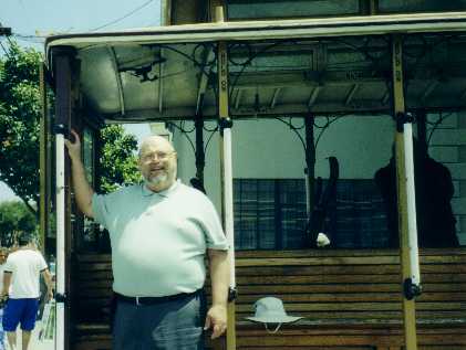
[[[23,202],[10,201],[0,203],[0,243],[11,246],[19,233],[37,233],[34,214]]]

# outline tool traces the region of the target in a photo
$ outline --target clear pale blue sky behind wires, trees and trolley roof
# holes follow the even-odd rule
[[[160,0],[1,0],[0,23],[11,28],[24,47],[43,52],[41,36],[51,33],[114,31],[160,24]],[[7,39],[0,38],[7,47]],[[0,55],[3,54],[0,46]],[[131,125],[138,139],[149,134],[147,125]],[[0,202],[15,199],[0,182]]]

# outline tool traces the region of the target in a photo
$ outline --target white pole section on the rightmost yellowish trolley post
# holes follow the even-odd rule
[[[416,191],[414,183],[414,151],[413,151],[413,125],[404,124],[404,162],[407,200],[407,248],[411,262],[411,279],[413,285],[421,285],[420,257],[417,247],[417,222],[416,222]]]

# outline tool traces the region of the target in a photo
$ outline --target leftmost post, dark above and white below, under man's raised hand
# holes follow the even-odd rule
[[[61,52],[63,51],[63,52]],[[68,296],[66,296],[66,233],[70,234],[70,215],[66,213],[70,193],[65,178],[64,138],[71,123],[72,73],[70,50],[55,55],[55,210],[56,210],[56,337],[55,350],[68,349]]]

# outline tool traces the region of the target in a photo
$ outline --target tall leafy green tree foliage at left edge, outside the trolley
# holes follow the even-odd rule
[[[38,216],[41,54],[14,42],[0,57],[0,180]]]

